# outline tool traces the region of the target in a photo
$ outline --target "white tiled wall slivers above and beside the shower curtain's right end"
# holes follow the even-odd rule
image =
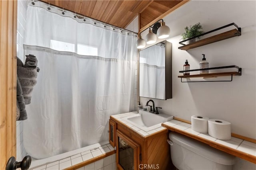
[[[138,33],[138,16],[125,29]],[[138,63],[136,63],[134,88],[134,110],[138,111]]]

